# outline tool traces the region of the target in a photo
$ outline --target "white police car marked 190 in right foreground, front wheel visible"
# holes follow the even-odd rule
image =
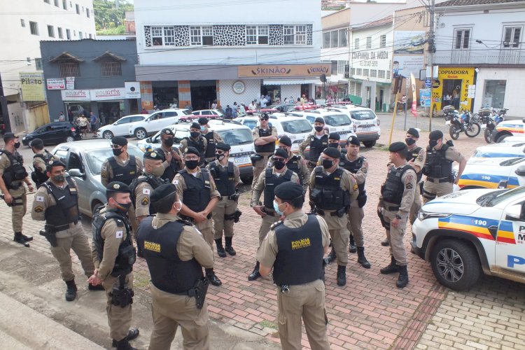
[[[411,244],[448,288],[468,289],[482,272],[525,283],[525,186],[428,202],[412,225]]]

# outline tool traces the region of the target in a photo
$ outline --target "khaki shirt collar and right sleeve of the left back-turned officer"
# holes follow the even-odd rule
[[[158,213],[153,218],[151,225],[155,229],[160,229],[162,226],[172,221],[179,220],[179,216],[175,214]],[[212,269],[214,267],[214,252],[210,246],[204,241],[202,234],[195,228],[195,226],[185,225],[177,241],[177,255],[182,261],[188,261],[193,258],[205,269]]]

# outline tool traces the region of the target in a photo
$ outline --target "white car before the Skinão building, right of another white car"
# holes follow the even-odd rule
[[[163,111],[153,112],[148,118],[141,122],[131,123],[128,135],[145,139],[148,134],[154,134],[169,125],[179,122],[181,116],[188,116],[187,109],[165,109]]]

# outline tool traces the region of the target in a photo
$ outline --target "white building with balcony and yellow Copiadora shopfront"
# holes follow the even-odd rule
[[[437,109],[459,92],[463,108],[505,107],[523,116],[525,1],[450,0],[436,6],[436,17]]]

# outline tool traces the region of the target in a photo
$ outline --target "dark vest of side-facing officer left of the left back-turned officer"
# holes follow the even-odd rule
[[[120,275],[129,274],[132,272],[133,264],[137,259],[135,247],[132,242],[132,235],[130,230],[130,222],[125,216],[119,214],[113,210],[104,211],[101,214],[100,207],[93,215],[93,222],[91,224],[91,233],[93,236],[93,244],[97,250],[97,258],[99,261],[102,261],[104,258],[104,239],[102,238],[102,228],[106,221],[115,220],[117,222],[118,230],[123,230],[126,232],[126,239],[124,239],[120,246],[118,246],[118,255],[115,259],[115,264],[111,270],[111,276],[118,277]]]

